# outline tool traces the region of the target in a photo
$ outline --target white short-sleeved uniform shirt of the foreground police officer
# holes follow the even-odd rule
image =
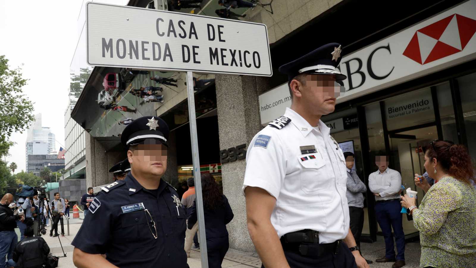
[[[344,154],[322,121],[314,128],[289,108],[284,116],[291,122],[280,129],[268,125],[252,139],[243,191],[259,187],[276,198],[271,223],[279,237],[311,229],[319,231],[319,243],[344,239],[349,230]],[[316,151],[302,150],[308,146]]]

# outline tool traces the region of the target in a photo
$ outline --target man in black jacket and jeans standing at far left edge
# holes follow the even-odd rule
[[[8,259],[13,258],[13,249],[17,245],[17,234],[15,228],[17,227],[17,220],[23,221],[25,217],[13,213],[10,207],[15,207],[13,202],[13,195],[6,194],[0,201],[0,268],[5,268],[5,256]]]

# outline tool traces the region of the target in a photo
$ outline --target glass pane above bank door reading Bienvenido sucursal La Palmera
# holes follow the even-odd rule
[[[435,122],[430,88],[405,93],[385,101],[389,131]]]

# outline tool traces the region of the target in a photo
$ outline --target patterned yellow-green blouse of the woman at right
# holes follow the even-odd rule
[[[413,210],[420,267],[476,268],[476,189],[452,176],[431,186]]]

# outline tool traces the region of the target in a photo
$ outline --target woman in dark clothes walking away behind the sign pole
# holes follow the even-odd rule
[[[201,176],[205,233],[207,235],[208,267],[221,268],[221,262],[228,251],[227,224],[233,219],[233,212],[225,195],[220,194],[212,175]],[[196,201],[188,216],[188,229],[197,222]]]

